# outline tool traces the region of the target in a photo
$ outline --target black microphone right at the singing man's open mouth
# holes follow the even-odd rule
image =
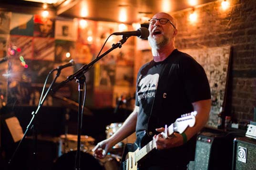
[[[137,31],[124,31],[124,32],[114,32],[113,35],[116,36],[137,36],[138,38],[141,39],[146,39],[149,36],[149,30],[145,27],[137,29]]]

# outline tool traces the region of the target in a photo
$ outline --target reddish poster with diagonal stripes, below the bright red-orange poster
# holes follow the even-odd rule
[[[54,38],[34,38],[33,58],[36,60],[54,61]]]

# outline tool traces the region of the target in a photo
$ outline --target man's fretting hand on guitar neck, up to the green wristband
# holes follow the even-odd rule
[[[155,129],[157,132],[164,132],[164,128]],[[181,134],[174,132],[175,137],[169,139],[164,139],[163,135],[159,133],[158,135],[154,135],[153,141],[155,143],[157,150],[174,148],[177,146],[183,145],[183,137]]]

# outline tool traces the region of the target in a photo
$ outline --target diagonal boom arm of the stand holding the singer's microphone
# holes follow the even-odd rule
[[[61,88],[66,83],[72,81],[73,79],[79,79],[81,76],[83,76],[84,73],[86,73],[89,70],[89,68],[91,68],[94,65],[94,63],[96,63],[102,57],[106,56],[108,53],[110,53],[111,51],[113,51],[117,47],[121,48],[122,44],[124,44],[129,37],[130,36],[123,36],[123,38],[120,41],[118,41],[116,44],[113,44],[112,47],[109,50],[104,52],[101,56],[95,58],[88,65],[83,65],[77,72],[75,72],[74,74],[68,76],[67,79],[62,81],[59,85],[56,85],[55,87],[53,87],[51,89],[51,91],[56,92],[59,88]]]

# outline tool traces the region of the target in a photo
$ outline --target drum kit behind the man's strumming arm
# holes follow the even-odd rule
[[[106,126],[106,137],[111,137],[123,123],[111,123]],[[81,170],[118,170],[121,163],[123,143],[113,146],[113,150],[102,160],[93,157],[92,149],[95,139],[91,136],[81,135]],[[72,170],[77,150],[77,135],[63,134],[60,137],[58,159],[53,164],[54,170]]]

